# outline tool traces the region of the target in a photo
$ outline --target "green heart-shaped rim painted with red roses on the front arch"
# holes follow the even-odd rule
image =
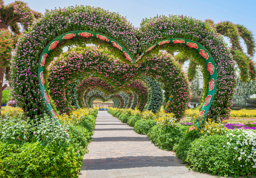
[[[209,86],[208,86],[207,96],[205,98],[204,105],[203,105],[203,107],[202,107],[202,109],[199,113],[199,116],[205,116],[206,113],[209,111],[209,109],[211,107],[212,100],[213,100],[213,95],[214,95],[215,90],[216,90],[217,69],[216,69],[215,61],[214,61],[211,53],[204,46],[202,46],[201,44],[199,44],[195,41],[192,41],[190,39],[184,39],[184,38],[164,39],[164,40],[160,40],[160,41],[154,43],[153,45],[151,45],[150,47],[148,47],[143,53],[141,53],[139,55],[139,57],[136,60],[134,60],[132,58],[132,56],[130,55],[130,53],[124,48],[124,46],[122,46],[116,40],[108,37],[107,35],[104,35],[104,34],[98,33],[98,32],[92,32],[92,31],[86,31],[86,30],[77,30],[77,31],[66,32],[66,33],[63,33],[63,34],[55,37],[44,48],[44,50],[42,51],[41,56],[39,58],[39,61],[38,61],[38,64],[39,64],[38,65],[39,87],[40,87],[40,90],[41,90],[41,94],[44,98],[44,101],[46,103],[46,107],[49,110],[49,112],[51,112],[51,114],[53,116],[57,117],[57,114],[53,111],[53,108],[52,108],[50,100],[49,100],[49,95],[47,94],[46,88],[45,88],[45,85],[44,85],[45,59],[46,59],[47,55],[51,52],[51,50],[54,49],[61,41],[71,39],[71,38],[76,37],[76,36],[81,36],[81,37],[85,37],[85,38],[94,37],[94,38],[98,38],[100,40],[104,40],[104,41],[107,41],[109,43],[112,43],[113,46],[115,46],[116,48],[118,48],[120,51],[122,51],[124,53],[126,59],[129,60],[131,62],[131,64],[139,61],[145,53],[148,53],[149,51],[151,51],[156,46],[161,46],[161,45],[168,44],[168,43],[174,43],[174,44],[184,44],[186,46],[189,46],[190,48],[193,48],[204,58],[205,64],[206,64],[207,69],[210,73],[210,82],[209,82]],[[171,101],[171,97],[167,101],[167,104],[170,101]]]

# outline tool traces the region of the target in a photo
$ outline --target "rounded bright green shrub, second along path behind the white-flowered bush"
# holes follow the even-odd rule
[[[186,130],[187,127],[180,124],[174,127],[155,125],[148,132],[148,136],[160,149],[172,150],[173,146],[179,143]]]

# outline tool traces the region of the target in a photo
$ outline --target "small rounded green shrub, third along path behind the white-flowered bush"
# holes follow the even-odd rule
[[[145,120],[145,119],[140,119],[135,122],[134,125],[134,131],[139,133],[139,134],[144,134],[147,135],[149,130],[156,125],[155,120]]]

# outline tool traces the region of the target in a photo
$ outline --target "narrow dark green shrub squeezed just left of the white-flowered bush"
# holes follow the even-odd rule
[[[173,147],[173,151],[176,151],[176,156],[184,161],[187,158],[188,149],[190,148],[191,143],[200,136],[200,132],[195,129],[187,132],[182,139],[180,139],[180,142]]]

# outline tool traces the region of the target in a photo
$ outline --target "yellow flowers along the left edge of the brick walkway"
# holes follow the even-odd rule
[[[73,110],[68,115],[61,114],[59,116],[59,120],[61,124],[79,124],[83,121],[85,116],[89,116],[94,110],[95,108],[81,108],[78,110]]]

